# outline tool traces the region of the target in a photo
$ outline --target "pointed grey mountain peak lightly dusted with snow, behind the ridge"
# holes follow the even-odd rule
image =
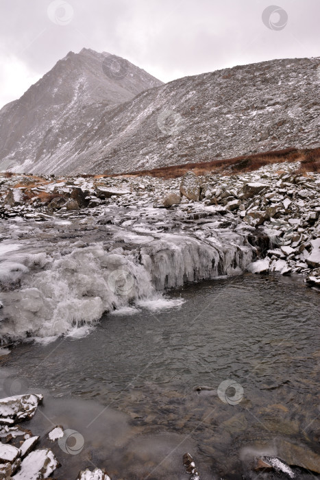
[[[86,140],[114,105],[162,82],[110,53],[82,49],[60,60],[0,111],[0,170],[55,171],[56,155]],[[49,160],[49,163],[48,163]],[[64,158],[68,163],[68,157]]]

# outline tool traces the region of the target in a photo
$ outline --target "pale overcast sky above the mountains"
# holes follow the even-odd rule
[[[127,58],[164,82],[237,64],[320,56],[320,0],[0,0],[0,5],[0,108],[82,47]]]

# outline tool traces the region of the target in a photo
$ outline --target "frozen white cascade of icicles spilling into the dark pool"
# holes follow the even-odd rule
[[[114,238],[113,249],[98,242],[62,252],[51,243],[45,252],[8,252],[0,270],[3,341],[92,326],[104,312],[159,300],[165,289],[239,274],[252,258],[245,237],[234,232],[199,239],[123,230],[123,246],[119,234]]]

